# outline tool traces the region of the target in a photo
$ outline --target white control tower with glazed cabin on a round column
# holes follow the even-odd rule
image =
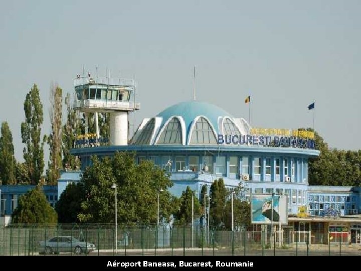
[[[75,111],[85,113],[85,134],[88,115],[94,113],[96,136],[99,139],[98,113],[110,113],[110,145],[128,145],[129,112],[139,110],[135,103],[135,82],[132,79],[77,76],[74,80]]]

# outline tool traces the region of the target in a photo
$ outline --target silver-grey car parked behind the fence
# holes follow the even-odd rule
[[[75,254],[90,253],[96,246],[90,242],[82,242],[72,236],[56,236],[39,242],[39,253],[53,254],[74,252]]]

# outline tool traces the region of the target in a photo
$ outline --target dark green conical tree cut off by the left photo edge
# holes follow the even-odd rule
[[[7,121],[1,126],[0,137],[0,180],[3,185],[15,184],[16,165],[14,157],[13,135]]]

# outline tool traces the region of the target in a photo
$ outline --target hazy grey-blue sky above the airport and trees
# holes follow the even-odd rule
[[[135,126],[196,98],[262,128],[312,127],[330,148],[361,149],[360,1],[7,1],[0,9],[0,121],[23,159],[24,100],[77,74],[133,78]],[[315,101],[314,110],[307,106]],[[131,127],[132,130],[132,127]],[[48,149],[48,147],[46,147]],[[46,150],[46,156],[48,156]]]

